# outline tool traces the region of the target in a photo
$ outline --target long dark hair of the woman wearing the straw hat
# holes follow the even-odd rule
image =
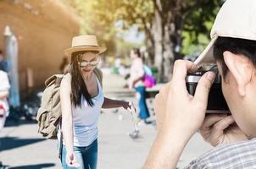
[[[81,69],[78,62],[81,61],[81,54],[85,51],[73,52],[71,55],[70,74],[71,74],[71,103],[76,107],[81,107],[81,96],[86,98],[87,104],[93,106],[92,96],[89,94],[84,79],[82,78]]]

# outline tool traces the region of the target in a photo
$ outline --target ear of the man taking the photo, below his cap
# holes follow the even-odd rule
[[[238,93],[241,96],[246,94],[246,86],[251,81],[253,68],[247,57],[225,51],[223,53],[224,62],[229,68],[237,82]]]

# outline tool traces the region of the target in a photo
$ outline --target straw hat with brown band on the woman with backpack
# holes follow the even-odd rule
[[[107,50],[106,47],[98,46],[95,35],[78,35],[73,37],[72,46],[64,50],[64,54],[71,56],[73,52],[79,51],[97,51],[98,54]]]

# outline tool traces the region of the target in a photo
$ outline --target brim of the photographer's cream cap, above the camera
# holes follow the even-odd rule
[[[196,65],[200,63],[214,63],[214,43],[218,39],[216,35],[206,46],[199,57],[194,61]]]

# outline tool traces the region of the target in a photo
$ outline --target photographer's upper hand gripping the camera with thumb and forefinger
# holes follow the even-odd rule
[[[186,90],[186,73],[195,71],[197,66],[189,61],[176,61],[173,78],[155,98],[155,112],[160,132],[177,133],[190,138],[203,123],[209,89],[214,81],[214,73],[203,74],[194,96]]]

